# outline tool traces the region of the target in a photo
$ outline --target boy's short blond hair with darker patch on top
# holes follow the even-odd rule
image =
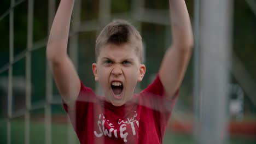
[[[114,20],[105,26],[96,39],[95,56],[96,61],[100,50],[107,44],[130,44],[135,48],[139,61],[142,61],[142,38],[141,34],[130,22],[125,20]]]

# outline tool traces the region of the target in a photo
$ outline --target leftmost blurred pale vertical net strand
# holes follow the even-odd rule
[[[13,53],[14,53],[14,4],[15,1],[10,2],[10,17],[9,17],[9,63],[8,70],[8,122],[7,122],[7,143],[11,143],[11,123],[10,119],[13,115]]]

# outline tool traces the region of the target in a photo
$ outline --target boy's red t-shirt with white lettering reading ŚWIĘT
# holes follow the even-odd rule
[[[81,82],[74,107],[63,104],[80,143],[162,143],[178,91],[166,100],[164,88],[156,77],[123,106],[113,106],[96,97]]]

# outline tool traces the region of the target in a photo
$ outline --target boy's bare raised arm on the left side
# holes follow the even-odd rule
[[[80,91],[80,81],[67,55],[68,34],[74,0],[61,0],[51,27],[46,56],[62,99],[73,104]]]

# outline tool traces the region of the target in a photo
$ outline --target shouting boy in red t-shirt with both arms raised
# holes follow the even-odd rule
[[[92,71],[104,97],[83,85],[67,56],[73,3],[61,0],[46,55],[80,143],[162,143],[193,47],[184,0],[170,0],[172,45],[154,82],[139,94],[133,92],[146,72],[141,64],[141,35],[123,20],[103,28],[96,40]]]

